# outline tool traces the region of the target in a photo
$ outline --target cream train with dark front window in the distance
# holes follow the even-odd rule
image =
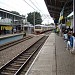
[[[34,33],[35,34],[41,34],[43,32],[53,30],[54,28],[55,28],[54,26],[35,25],[34,26]]]

